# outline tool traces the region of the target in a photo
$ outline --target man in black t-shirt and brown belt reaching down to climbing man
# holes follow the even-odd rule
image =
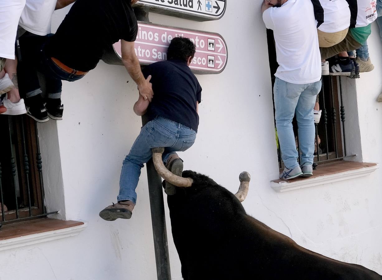
[[[44,122],[49,113],[49,117],[61,119],[61,80],[81,79],[97,66],[105,49],[118,40],[121,40],[126,70],[138,84],[144,99],[152,99],[150,79],[144,78],[134,50],[138,24],[131,5],[137,1],[77,0],[53,36],[37,41],[28,33],[20,37],[21,55],[27,66],[22,71],[22,79],[28,97],[28,114],[32,118]],[[42,102],[36,73],[33,73],[36,68],[47,76],[48,112]]]

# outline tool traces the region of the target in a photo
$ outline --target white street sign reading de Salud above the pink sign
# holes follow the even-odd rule
[[[154,13],[208,21],[224,15],[226,2],[227,0],[140,0],[134,7],[144,6]]]

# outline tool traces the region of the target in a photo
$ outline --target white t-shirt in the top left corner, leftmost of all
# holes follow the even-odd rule
[[[25,0],[0,0],[0,57],[15,59],[17,24]]]

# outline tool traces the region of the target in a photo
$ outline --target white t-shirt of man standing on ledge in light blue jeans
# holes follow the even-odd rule
[[[321,78],[321,55],[313,5],[309,0],[288,0],[264,11],[265,26],[274,31],[278,68],[275,76],[293,84]]]

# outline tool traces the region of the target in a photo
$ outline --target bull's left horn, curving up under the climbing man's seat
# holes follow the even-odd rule
[[[177,187],[191,187],[193,180],[191,178],[183,178],[173,174],[168,170],[162,161],[162,154],[164,148],[154,148],[152,149],[152,161],[154,162],[155,169],[158,174],[165,179],[168,183],[173,184]]]

